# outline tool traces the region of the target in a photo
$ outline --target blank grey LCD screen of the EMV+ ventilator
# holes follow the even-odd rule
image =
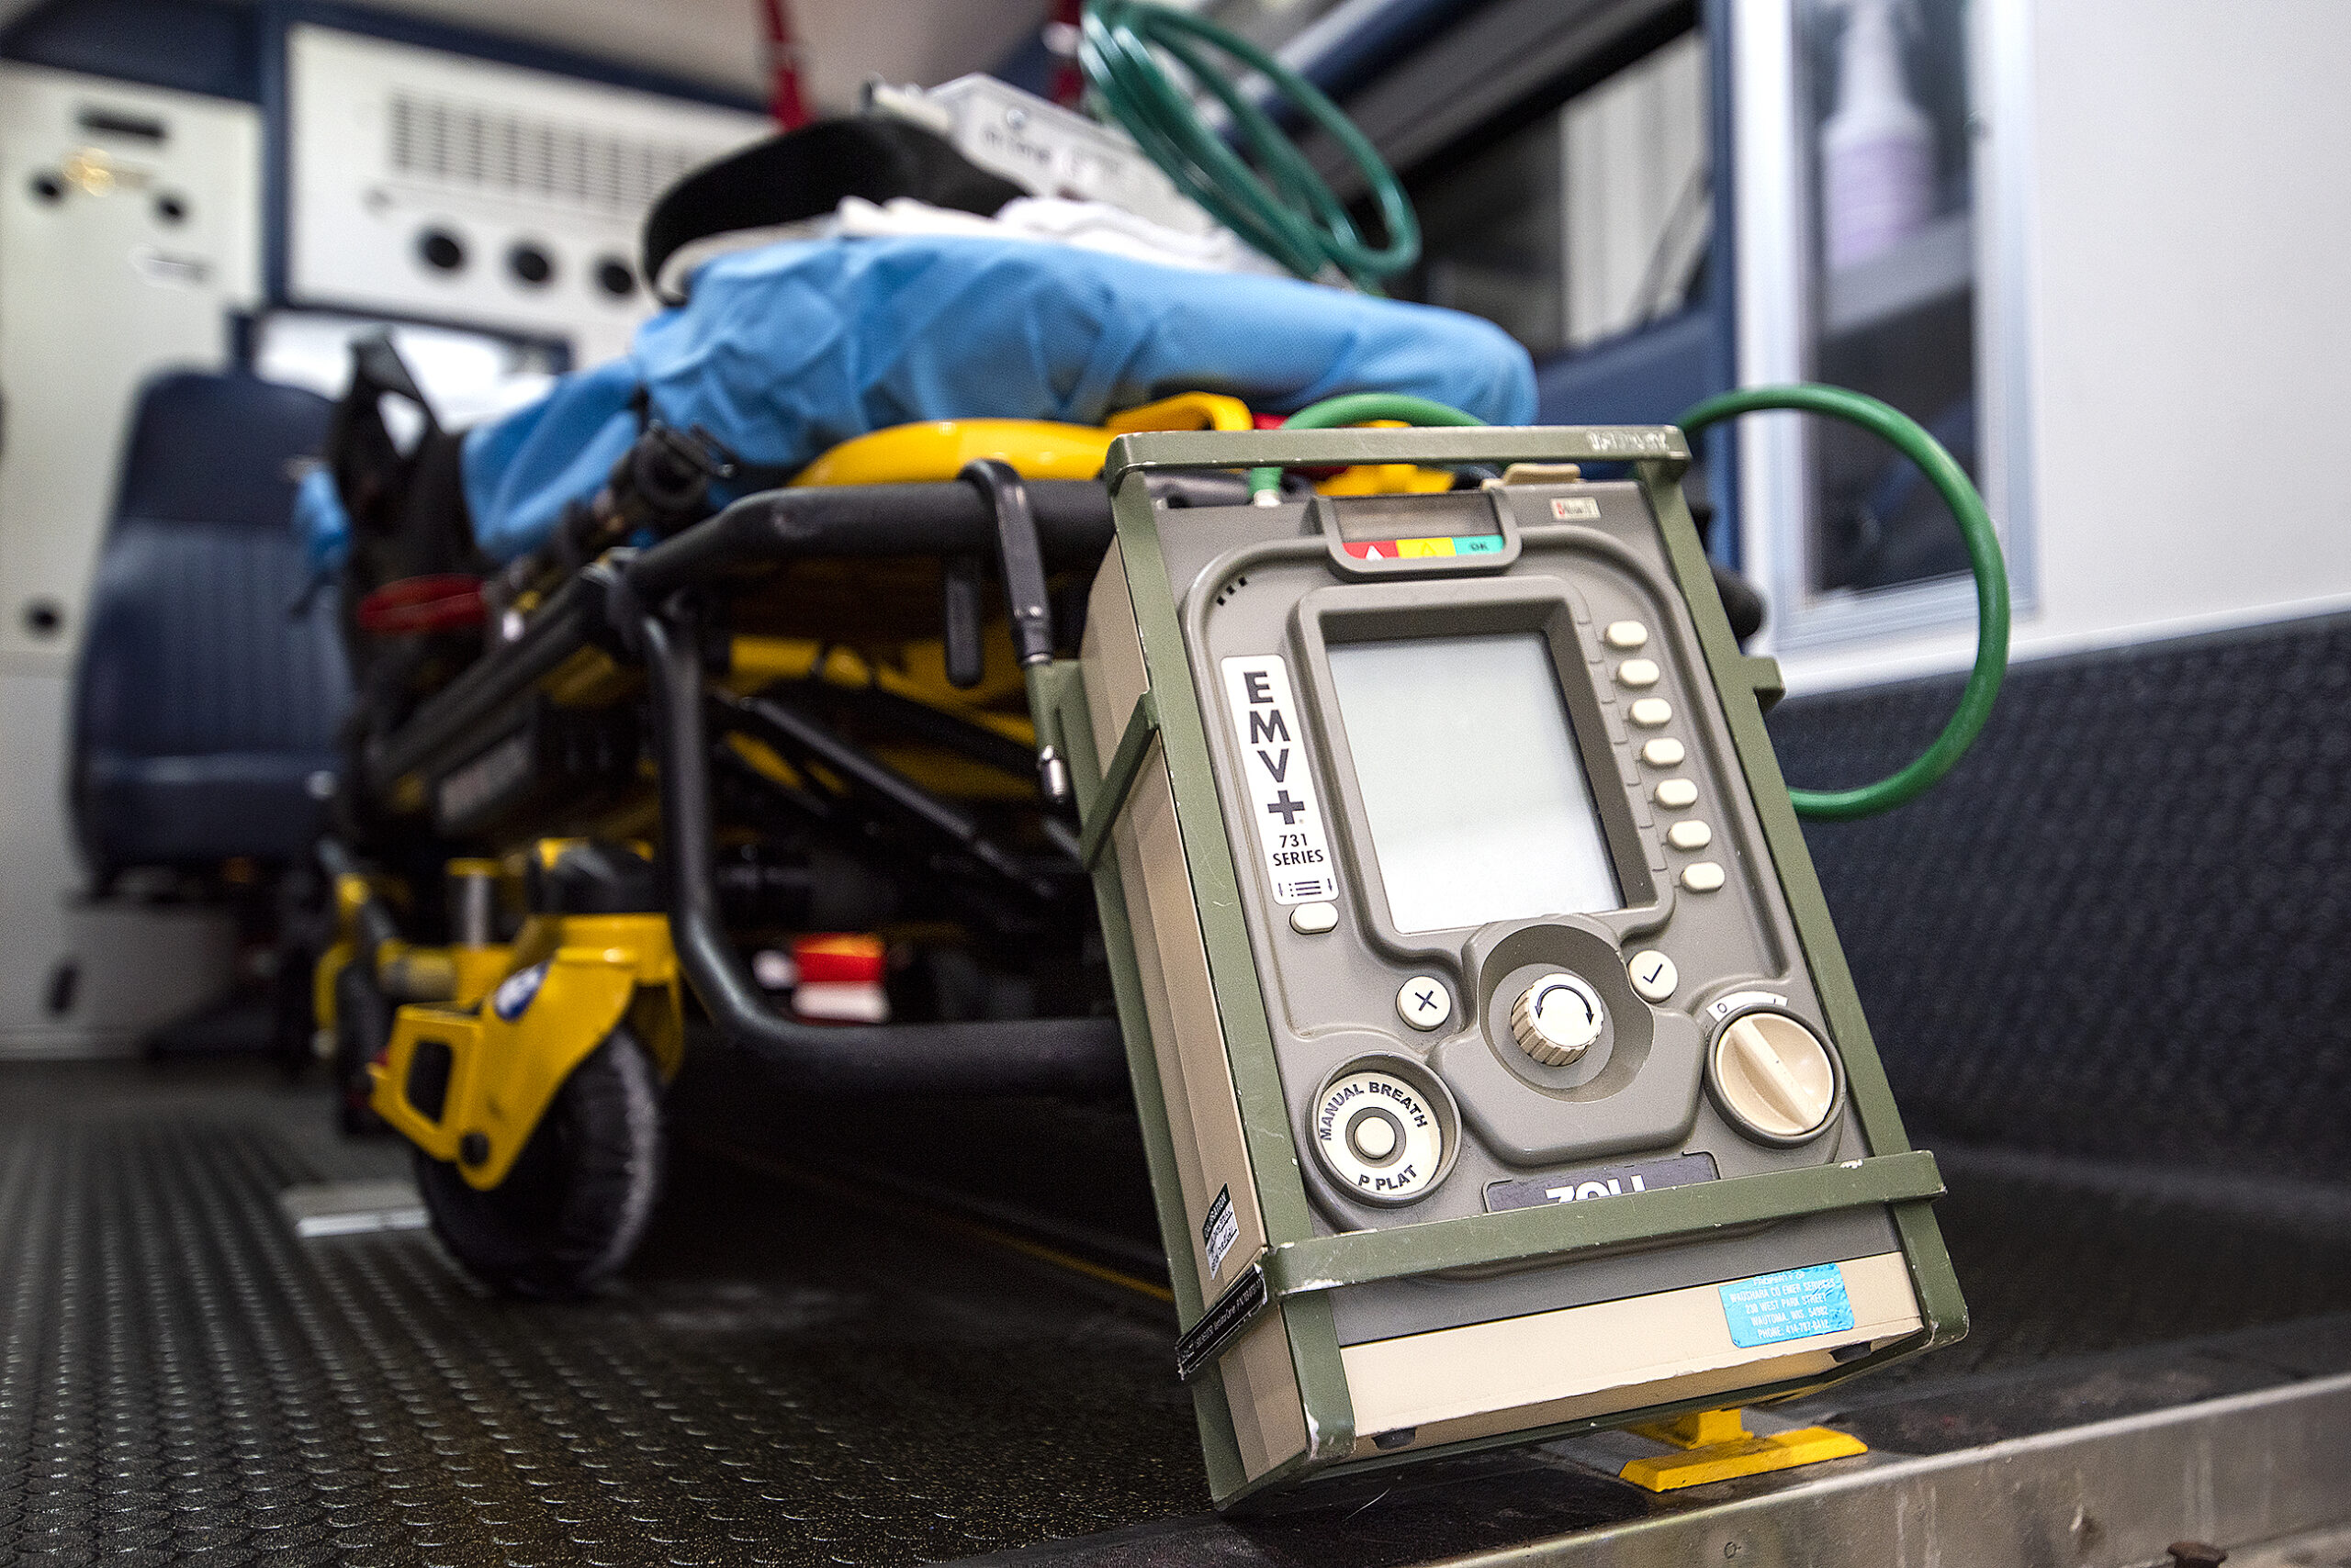
[[[1331,644],[1396,931],[1622,910],[1540,632]]]

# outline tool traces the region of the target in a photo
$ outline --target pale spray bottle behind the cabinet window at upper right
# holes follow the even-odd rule
[[[1820,127],[1829,268],[1881,256],[1935,212],[1935,127],[1902,82],[1902,0],[1843,0],[1836,113]]]

